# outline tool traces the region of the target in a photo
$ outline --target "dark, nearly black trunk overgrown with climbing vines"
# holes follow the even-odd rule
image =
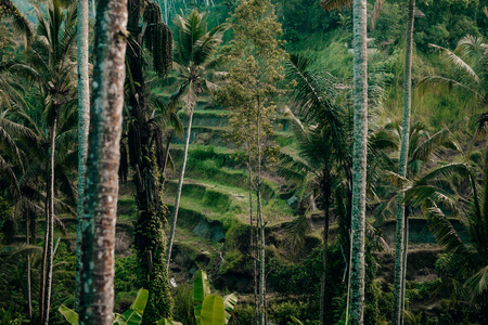
[[[166,236],[164,222],[168,211],[163,203],[164,166],[159,169],[153,150],[156,132],[151,123],[143,70],[142,39],[144,28],[139,26],[144,1],[129,1],[128,29],[137,35],[140,47],[132,47],[127,55],[129,78],[128,105],[132,123],[129,127],[130,166],[136,174],[136,205],[138,219],[133,240],[138,261],[138,286],[149,290],[149,300],[142,324],[152,324],[162,317],[170,317],[172,300],[166,270]],[[155,28],[153,26],[146,28]],[[169,141],[166,155],[169,154]],[[167,156],[165,156],[166,165]]]

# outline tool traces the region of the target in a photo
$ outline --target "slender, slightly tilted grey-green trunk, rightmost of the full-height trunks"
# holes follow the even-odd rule
[[[403,120],[401,129],[401,147],[400,147],[400,164],[398,174],[402,178],[407,177],[407,165],[409,160],[410,147],[410,110],[411,110],[411,89],[412,89],[412,52],[413,52],[413,24],[414,24],[415,0],[409,1],[409,15],[406,37],[406,53],[404,53],[404,73],[403,73]],[[404,194],[398,193],[398,208],[397,208],[397,226],[396,226],[396,248],[395,248],[395,292],[394,292],[394,314],[393,324],[399,325],[402,323],[402,297],[404,288],[404,256],[407,251],[404,238]]]

